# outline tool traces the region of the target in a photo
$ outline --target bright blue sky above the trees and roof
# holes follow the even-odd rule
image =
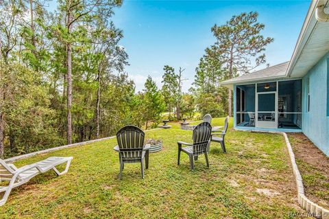
[[[270,65],[291,58],[310,1],[123,1],[112,18],[121,28],[129,55],[126,71],[141,91],[150,75],[161,84],[162,68],[183,67],[183,90],[191,87],[199,58],[215,42],[210,28],[232,15],[256,11],[265,24],[264,36],[274,42],[265,54]],[[264,67],[264,66],[263,66]]]

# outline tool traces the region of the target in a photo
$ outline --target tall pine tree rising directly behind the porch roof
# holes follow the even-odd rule
[[[228,78],[235,73],[249,73],[255,67],[266,62],[265,47],[273,38],[260,34],[265,25],[257,22],[258,13],[241,13],[232,16],[225,25],[211,28],[217,42],[212,46],[219,61],[226,64]],[[232,91],[228,91],[228,114],[232,116]]]

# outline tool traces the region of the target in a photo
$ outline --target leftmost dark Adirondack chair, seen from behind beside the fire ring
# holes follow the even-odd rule
[[[143,130],[136,126],[125,126],[117,132],[119,146],[114,147],[114,150],[119,152],[119,179],[121,179],[125,163],[141,163],[142,178],[144,178],[143,162],[145,160],[146,168],[148,168],[150,148],[150,145],[144,146],[144,137],[145,133]]]

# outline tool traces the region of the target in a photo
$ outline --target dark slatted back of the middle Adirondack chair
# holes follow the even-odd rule
[[[210,141],[211,125],[209,122],[202,122],[193,130],[193,154],[199,155],[207,152]]]

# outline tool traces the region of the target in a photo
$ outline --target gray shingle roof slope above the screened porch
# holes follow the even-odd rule
[[[283,62],[278,65],[273,65],[271,67],[267,67],[266,69],[261,69],[259,71],[255,71],[252,73],[245,73],[242,76],[231,78],[229,80],[224,80],[220,82],[220,84],[237,84],[240,82],[254,82],[257,80],[265,80],[271,78],[284,78],[286,76],[286,71],[289,66],[288,62]]]

